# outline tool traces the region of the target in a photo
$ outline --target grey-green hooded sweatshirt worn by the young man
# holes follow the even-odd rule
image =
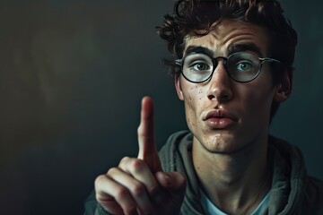
[[[188,178],[182,215],[204,214],[192,163],[192,136],[188,131],[174,133],[159,152],[164,171],[179,171]],[[323,181],[307,176],[301,150],[273,136],[268,138],[273,167],[268,214],[323,215]],[[84,215],[93,214],[109,214],[95,201],[94,192],[85,202]]]

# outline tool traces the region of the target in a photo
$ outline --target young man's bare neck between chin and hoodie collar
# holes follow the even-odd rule
[[[193,163],[202,190],[230,214],[252,211],[269,190],[267,138],[234,153],[214,153],[193,140]]]

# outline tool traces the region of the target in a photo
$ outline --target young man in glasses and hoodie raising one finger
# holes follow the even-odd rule
[[[323,183],[268,133],[292,88],[296,32],[279,3],[178,1],[158,29],[189,132],[158,153],[144,98],[139,154],[98,176],[85,214],[323,214]]]

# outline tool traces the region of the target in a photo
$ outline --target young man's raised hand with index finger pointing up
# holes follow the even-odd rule
[[[186,190],[179,172],[163,172],[155,144],[153,100],[142,100],[137,158],[125,157],[95,180],[96,199],[111,214],[178,214]]]

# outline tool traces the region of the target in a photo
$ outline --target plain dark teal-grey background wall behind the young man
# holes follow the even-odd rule
[[[281,2],[299,44],[272,133],[322,179],[323,2]],[[0,1],[0,214],[82,214],[95,177],[136,156],[144,95],[158,147],[186,129],[154,30],[172,3]]]

